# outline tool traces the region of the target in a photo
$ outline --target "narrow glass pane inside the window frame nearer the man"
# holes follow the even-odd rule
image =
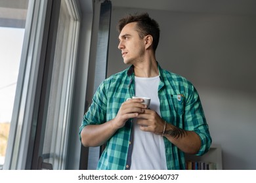
[[[70,45],[70,22],[66,1],[62,1],[58,22],[56,48],[54,52],[53,75],[51,80],[51,92],[49,108],[47,112],[47,124],[43,144],[43,161],[51,163],[53,169],[63,169],[66,161],[64,150],[68,138],[68,99],[70,97],[70,62],[68,59],[68,46]]]

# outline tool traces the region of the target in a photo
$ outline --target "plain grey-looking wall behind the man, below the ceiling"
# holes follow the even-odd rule
[[[160,24],[161,67],[185,76],[200,93],[213,143],[223,148],[223,169],[256,169],[256,16],[114,7],[108,76],[127,68],[117,49],[117,21],[146,11]]]

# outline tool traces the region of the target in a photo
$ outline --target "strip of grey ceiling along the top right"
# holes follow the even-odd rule
[[[256,15],[255,0],[110,0],[112,7]]]

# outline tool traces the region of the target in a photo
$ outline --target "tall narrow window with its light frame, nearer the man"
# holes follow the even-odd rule
[[[44,162],[65,169],[72,109],[79,17],[72,1],[61,1],[43,140]]]

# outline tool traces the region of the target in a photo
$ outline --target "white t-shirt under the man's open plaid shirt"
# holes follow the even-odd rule
[[[135,76],[135,95],[137,97],[150,97],[149,108],[160,115],[159,82],[159,76],[152,78]],[[133,123],[134,144],[131,155],[131,170],[167,169],[163,137],[152,132],[141,131],[136,118]]]

